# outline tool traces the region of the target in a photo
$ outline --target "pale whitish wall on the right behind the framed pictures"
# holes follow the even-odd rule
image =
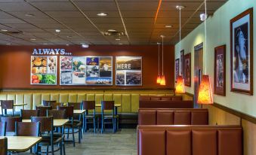
[[[254,79],[256,77],[256,0],[229,0],[225,5],[219,8],[212,17],[207,20],[207,58],[205,59],[204,49],[204,70],[205,64],[207,74],[211,77],[211,87],[214,84],[214,47],[226,44],[226,96],[214,95],[214,102],[241,111],[245,114],[256,117],[256,80],[254,80],[254,96],[243,95],[240,93],[230,92],[230,20],[236,15],[241,14],[248,8],[254,8]],[[191,87],[186,87],[187,93],[194,93],[193,75],[194,75],[194,47],[197,44],[205,42],[204,24],[201,24],[193,32],[190,32],[186,38],[175,45],[175,59],[180,57],[181,50],[184,49],[185,54],[191,53]],[[206,61],[205,61],[206,60]]]

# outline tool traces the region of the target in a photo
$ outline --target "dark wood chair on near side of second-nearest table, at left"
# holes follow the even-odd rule
[[[31,121],[41,123],[40,136],[42,137],[42,141],[39,143],[39,147],[47,147],[46,152],[40,151],[39,153],[54,154],[54,152],[60,150],[60,155],[62,155],[62,151],[65,152],[65,135],[54,136],[54,117],[32,117]],[[59,146],[57,150],[54,150],[54,145]],[[51,151],[49,151],[49,147],[51,147]]]

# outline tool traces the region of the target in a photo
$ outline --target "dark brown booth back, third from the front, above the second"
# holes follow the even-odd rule
[[[140,100],[139,108],[193,108],[193,101]]]

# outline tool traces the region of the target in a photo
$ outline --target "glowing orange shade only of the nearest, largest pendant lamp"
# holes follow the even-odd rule
[[[197,102],[199,104],[213,104],[211,82],[208,74],[202,75],[202,81],[199,86],[199,96]]]

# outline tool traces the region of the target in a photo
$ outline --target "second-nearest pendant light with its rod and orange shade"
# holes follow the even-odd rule
[[[181,41],[181,9],[184,8],[184,6],[177,6],[176,7],[180,11],[180,41]],[[180,43],[180,50],[181,50],[181,43]],[[181,64],[182,62],[180,62]],[[185,93],[185,87],[184,87],[184,78],[180,75],[177,76],[177,84],[175,88],[175,93]]]

